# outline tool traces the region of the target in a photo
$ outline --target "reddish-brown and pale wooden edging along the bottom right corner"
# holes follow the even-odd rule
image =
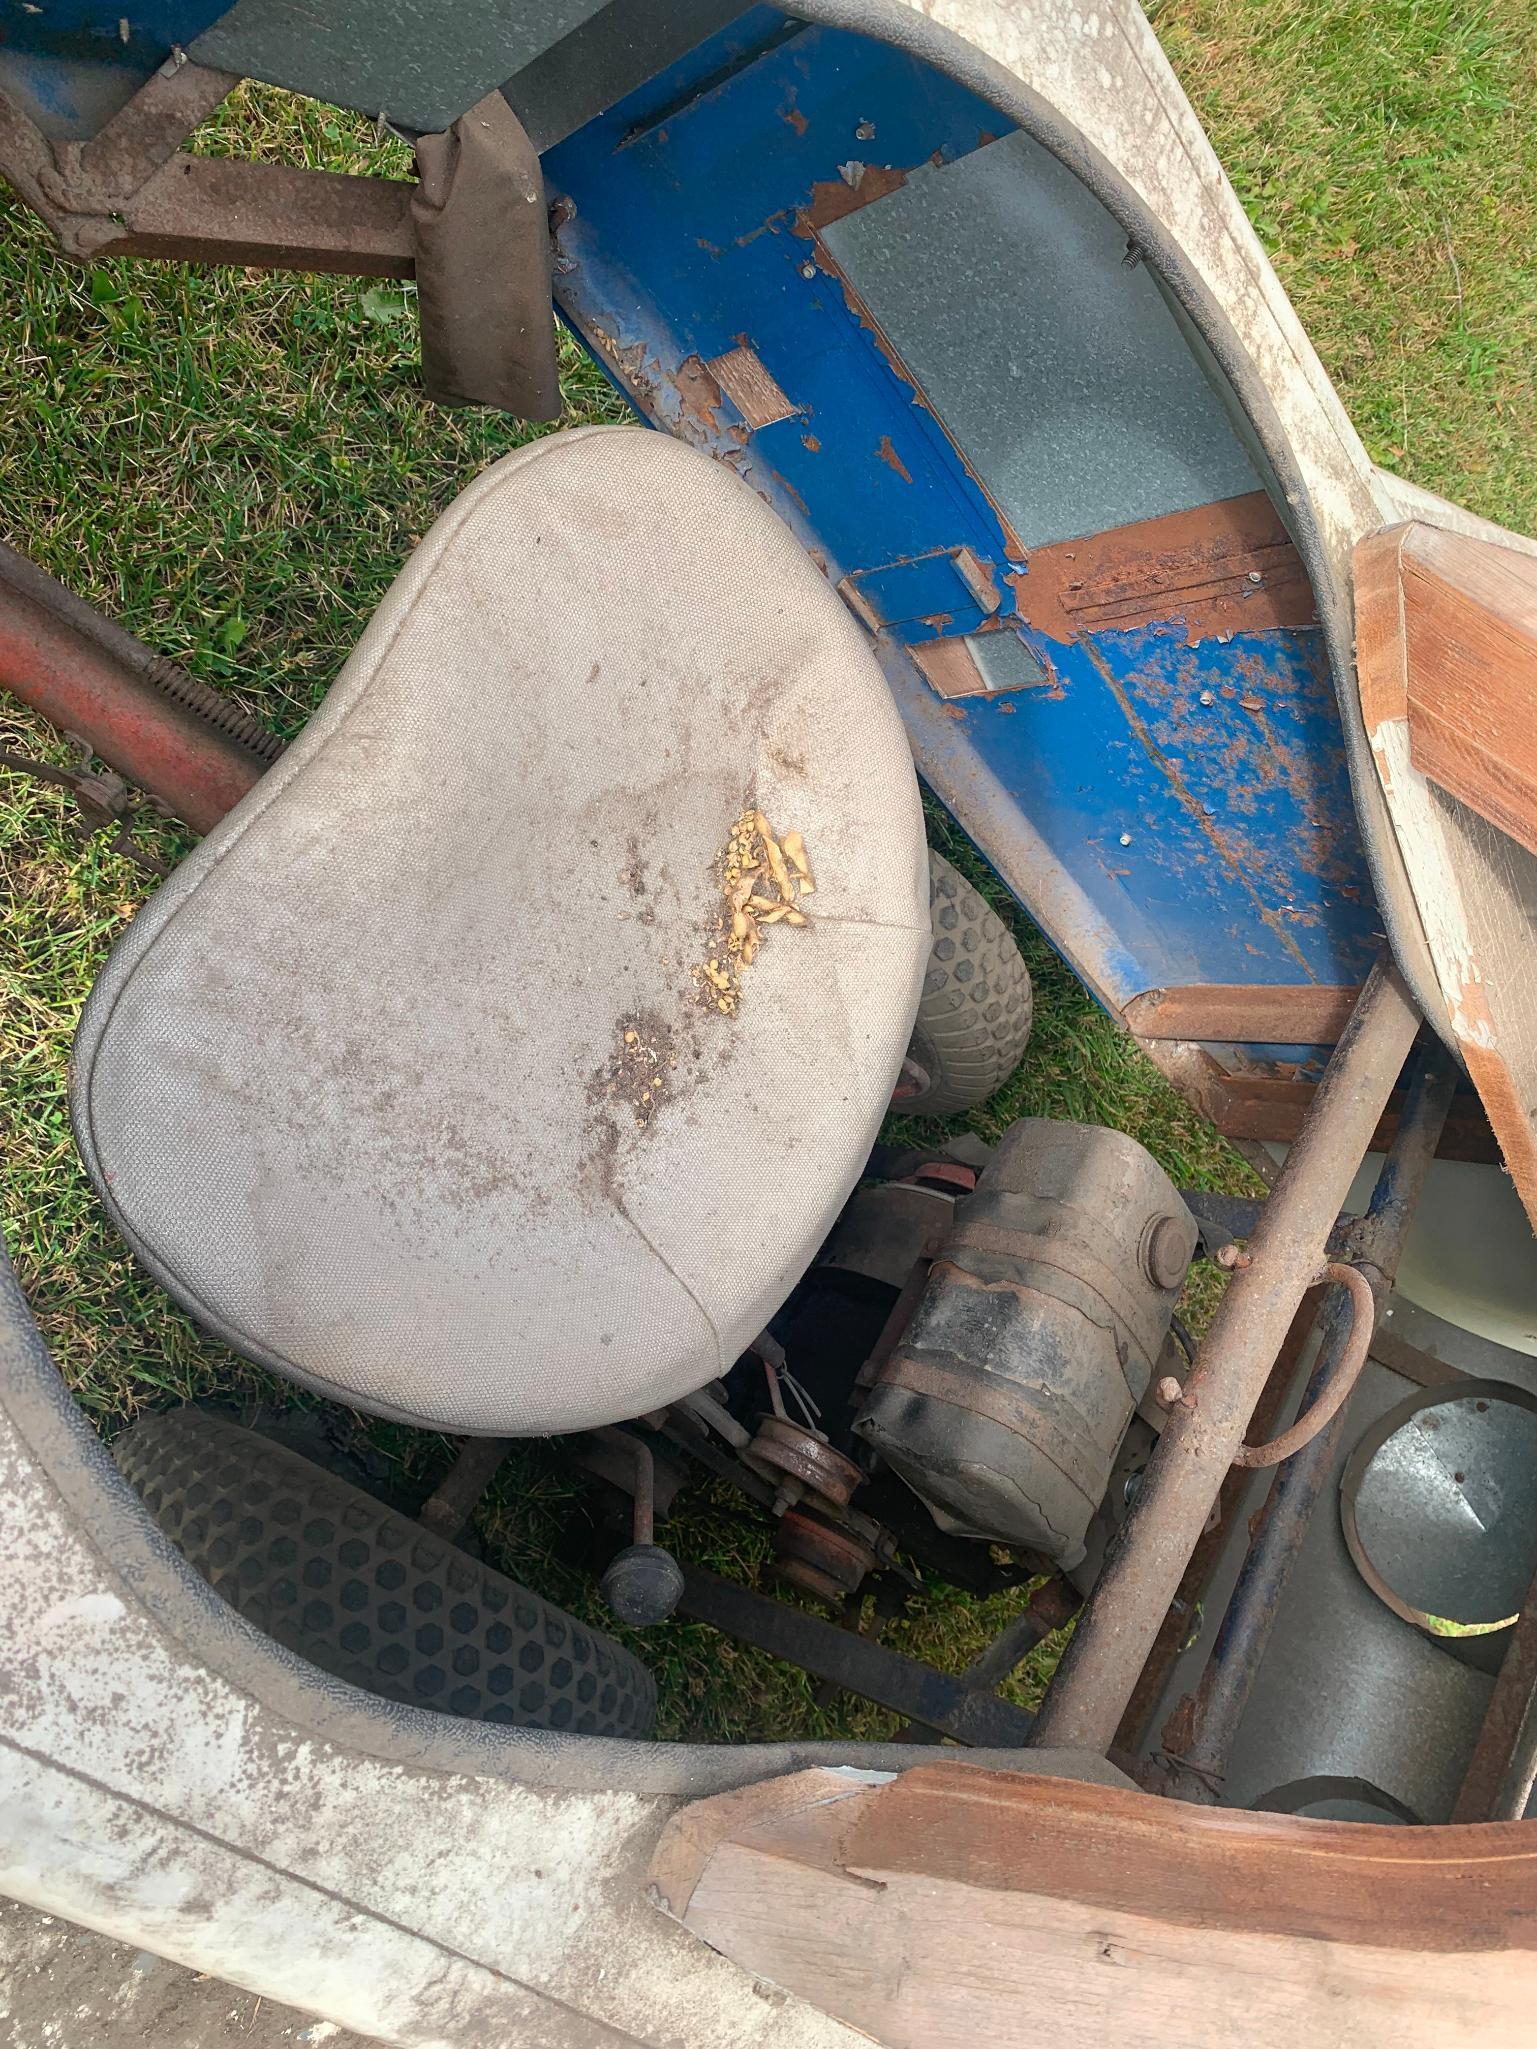
[[[717,1832],[678,1918],[887,2049],[1531,2041],[1521,1824],[1305,1822],[965,1764],[812,1793],[781,1783]]]

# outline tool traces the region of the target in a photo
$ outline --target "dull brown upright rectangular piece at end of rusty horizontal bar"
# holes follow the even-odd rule
[[[539,156],[500,92],[416,143],[422,383],[441,406],[557,420],[549,211]]]

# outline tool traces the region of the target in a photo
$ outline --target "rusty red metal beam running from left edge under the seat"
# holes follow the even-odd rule
[[[193,832],[209,832],[281,752],[254,719],[0,551],[0,684],[78,734]]]

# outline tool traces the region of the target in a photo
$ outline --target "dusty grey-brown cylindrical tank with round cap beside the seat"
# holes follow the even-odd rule
[[[1023,1119],[957,1203],[855,1432],[943,1531],[1076,1565],[1195,1240],[1135,1139]]]

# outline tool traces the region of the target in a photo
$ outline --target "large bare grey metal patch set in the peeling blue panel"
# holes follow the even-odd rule
[[[1258,490],[1125,232],[1025,133],[822,234],[1025,547]]]

